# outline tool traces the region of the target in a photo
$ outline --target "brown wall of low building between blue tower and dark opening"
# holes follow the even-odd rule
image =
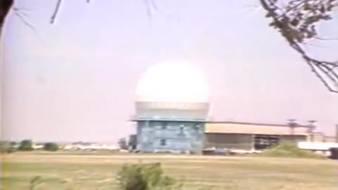
[[[204,148],[237,148],[251,150],[253,139],[251,134],[219,134],[206,133]]]

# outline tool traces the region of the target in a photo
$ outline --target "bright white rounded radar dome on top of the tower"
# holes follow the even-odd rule
[[[165,61],[149,68],[137,85],[139,102],[207,103],[206,79],[194,65],[184,61]]]

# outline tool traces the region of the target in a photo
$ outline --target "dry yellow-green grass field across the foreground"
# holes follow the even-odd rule
[[[338,189],[335,160],[62,153],[3,156],[1,189],[28,189],[36,176],[43,181],[38,189],[118,189],[115,172],[138,162],[161,162],[168,175],[184,181],[184,189]]]

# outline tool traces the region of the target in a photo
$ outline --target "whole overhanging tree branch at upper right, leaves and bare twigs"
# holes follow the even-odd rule
[[[318,23],[331,20],[337,0],[260,0],[275,28],[290,46],[301,54],[315,76],[332,92],[338,93],[338,62],[320,61],[308,56],[306,42],[318,37]],[[286,5],[284,6],[284,4]]]

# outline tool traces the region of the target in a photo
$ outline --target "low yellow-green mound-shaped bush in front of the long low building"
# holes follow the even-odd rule
[[[301,150],[293,144],[278,144],[265,149],[260,156],[267,157],[285,157],[285,158],[326,158],[325,156],[313,153],[311,151]]]

